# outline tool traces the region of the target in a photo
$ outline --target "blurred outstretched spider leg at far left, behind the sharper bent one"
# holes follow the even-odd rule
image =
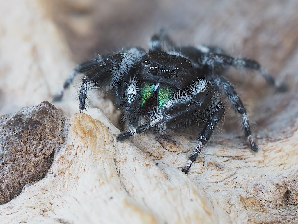
[[[69,85],[73,82],[73,80],[75,79],[75,76],[78,73],[82,73],[84,70],[88,70],[91,67],[94,67],[95,65],[100,64],[101,63],[100,59],[101,57],[99,56],[98,58],[94,58],[94,59],[91,59],[90,61],[83,62],[77,65],[77,67],[75,67],[75,69],[72,70],[72,73],[69,74],[68,78],[64,82],[63,88],[54,96],[54,102],[60,101],[62,99],[65,90],[69,88]]]

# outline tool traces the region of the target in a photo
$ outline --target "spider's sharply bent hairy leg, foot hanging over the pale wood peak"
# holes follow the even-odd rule
[[[82,79],[80,89],[80,112],[85,108],[87,92],[90,89],[106,87],[115,88],[120,79],[131,71],[144,56],[145,51],[139,48],[130,48],[109,55],[104,62],[93,67]]]

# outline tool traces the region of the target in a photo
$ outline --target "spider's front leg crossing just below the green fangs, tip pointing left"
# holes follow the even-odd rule
[[[216,93],[217,90],[213,85],[207,82],[204,88],[198,91],[191,99],[185,100],[184,102],[181,102],[181,100],[168,101],[154,116],[151,116],[147,124],[119,134],[117,140],[122,141],[155,127],[165,129],[167,124],[179,123],[181,120],[192,116],[196,111],[204,110]]]

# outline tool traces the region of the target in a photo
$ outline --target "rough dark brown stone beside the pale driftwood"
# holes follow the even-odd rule
[[[67,116],[49,102],[0,117],[0,204],[43,178],[65,141]]]

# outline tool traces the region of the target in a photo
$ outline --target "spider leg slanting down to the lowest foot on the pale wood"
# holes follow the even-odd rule
[[[201,152],[204,145],[206,145],[206,143],[212,136],[212,133],[215,130],[215,127],[218,124],[218,122],[220,122],[221,119],[223,118],[224,110],[225,110],[224,104],[222,102],[219,102],[217,107],[211,114],[211,116],[209,116],[209,118],[208,118],[198,140],[197,140],[197,146],[191,153],[191,156],[189,158],[187,165],[185,165],[184,168],[182,168],[182,170],[181,170],[185,174],[187,174],[188,170],[190,169],[190,166],[193,164],[193,162],[195,162],[195,159],[198,157],[198,154]]]

